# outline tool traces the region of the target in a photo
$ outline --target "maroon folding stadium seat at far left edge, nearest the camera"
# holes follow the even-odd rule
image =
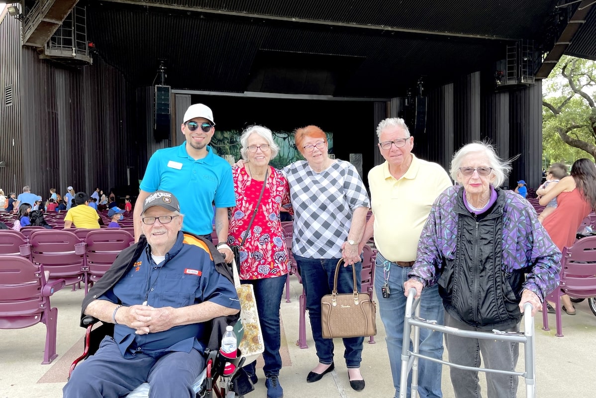
[[[42,322],[46,327],[44,362],[56,354],[58,309],[49,296],[64,287],[64,279],[47,282],[44,266],[20,256],[3,256],[0,261],[0,329],[22,329]],[[32,342],[27,342],[32,344]]]

